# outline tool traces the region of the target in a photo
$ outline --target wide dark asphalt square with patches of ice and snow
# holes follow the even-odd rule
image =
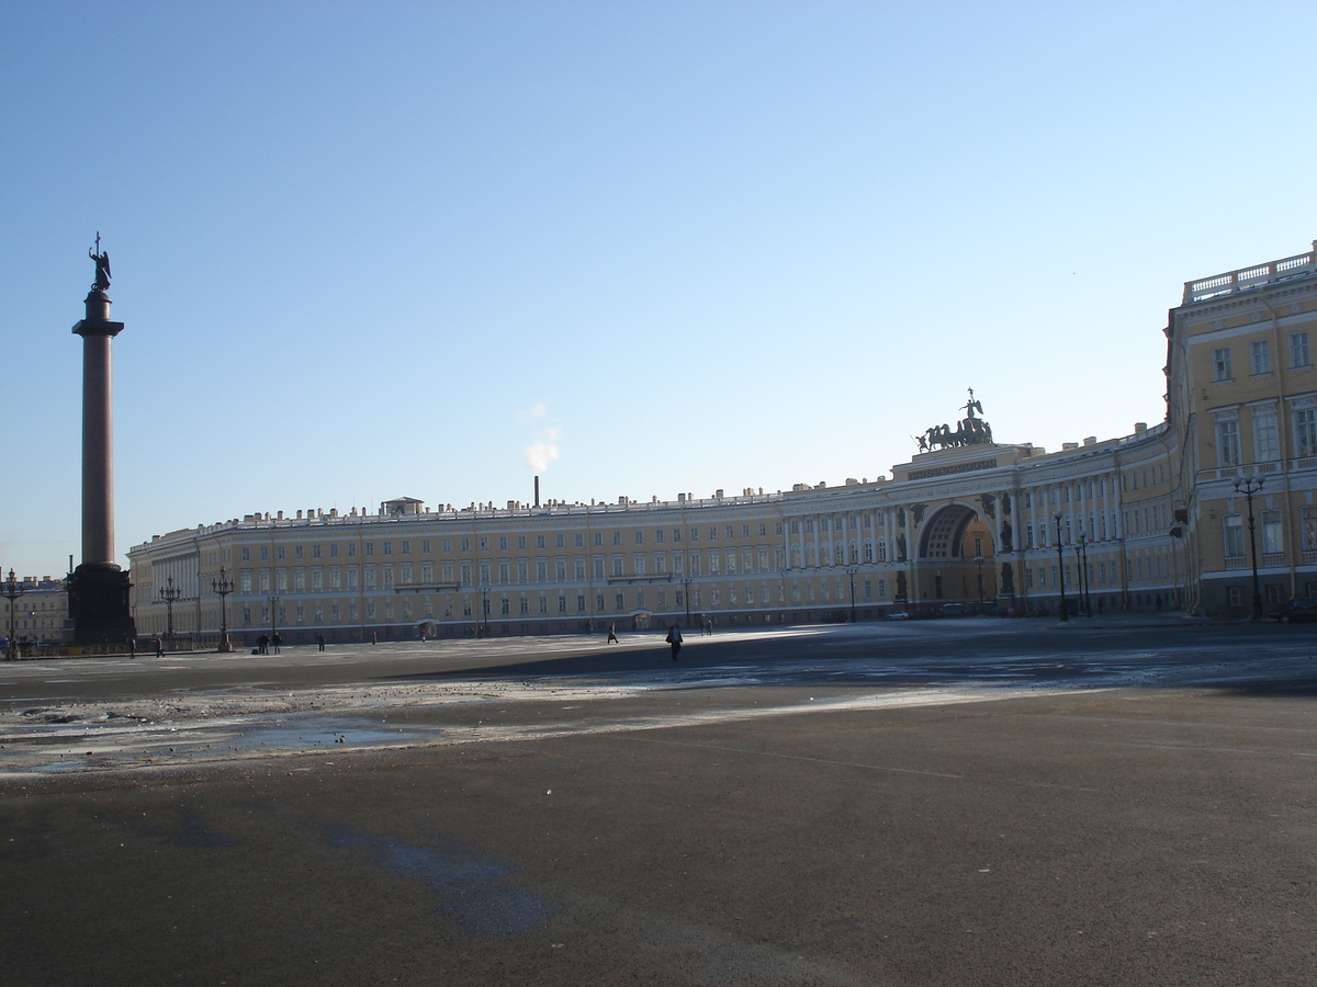
[[[1317,983],[1314,645],[969,620],[681,662],[656,634],[7,665],[0,965]]]

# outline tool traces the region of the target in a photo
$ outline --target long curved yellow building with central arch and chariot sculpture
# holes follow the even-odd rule
[[[1129,436],[1051,453],[1002,442],[971,392],[955,428],[927,429],[890,478],[248,515],[129,551],[137,628],[163,633],[171,611],[176,632],[216,634],[221,570],[241,644],[1058,613],[1063,594],[1093,613],[1246,616],[1259,483],[1258,596],[1317,588],[1314,255],[1185,284],[1164,329],[1167,417]]]

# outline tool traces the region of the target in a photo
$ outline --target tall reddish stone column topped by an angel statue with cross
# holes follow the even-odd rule
[[[74,326],[83,338],[83,561],[68,578],[74,644],[121,644],[134,634],[128,572],[115,562],[115,462],[109,341],[124,329],[109,321],[109,253],[88,250],[96,283],[87,317]]]

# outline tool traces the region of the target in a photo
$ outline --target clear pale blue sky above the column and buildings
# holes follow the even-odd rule
[[[1317,237],[1317,5],[0,5],[0,566],[254,511],[873,478],[1162,420],[1184,280]],[[75,559],[76,561],[76,559]],[[126,558],[121,558],[126,565]]]

